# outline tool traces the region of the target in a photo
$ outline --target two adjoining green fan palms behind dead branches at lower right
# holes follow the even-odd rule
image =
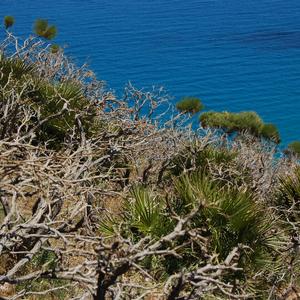
[[[118,224],[122,224],[121,234],[135,242],[146,236],[159,240],[162,235],[172,232],[177,224],[169,207],[177,216],[184,217],[200,206],[189,226],[190,230],[204,236],[206,242],[201,245],[194,243],[188,235],[182,236],[173,245],[179,249],[180,257],[167,256],[158,261],[153,256],[143,261],[150,274],[160,274],[159,279],[166,280],[175,272],[205,265],[207,257],[203,248],[217,253],[218,259],[223,260],[239,245],[245,248],[237,266],[244,271],[232,274],[228,280],[248,284],[248,276],[268,272],[275,265],[279,266],[280,273],[280,262],[275,258],[284,236],[273,234],[280,228],[279,222],[274,222],[275,217],[270,211],[256,202],[253,191],[224,185],[222,180],[201,171],[181,174],[173,180],[172,186],[172,194],[165,197],[155,195],[149,188],[135,186],[121,215],[116,219],[106,217],[101,223],[101,232],[109,236],[120,234]],[[260,277],[256,284],[266,288],[267,281]],[[262,291],[256,292],[259,296]]]

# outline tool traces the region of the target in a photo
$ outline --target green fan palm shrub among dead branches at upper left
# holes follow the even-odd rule
[[[11,107],[6,123],[2,124],[3,138],[15,132],[25,108],[31,110],[26,130],[35,131],[33,142],[47,142],[50,148],[62,147],[70,136],[79,139],[81,130],[86,137],[91,137],[102,126],[95,120],[96,107],[84,96],[78,83],[41,79],[34,64],[19,58],[6,58],[3,54],[0,55],[0,73],[1,109],[10,103],[8,95],[12,91],[19,95],[13,102],[15,108]]]

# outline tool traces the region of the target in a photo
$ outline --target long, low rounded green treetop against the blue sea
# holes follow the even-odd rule
[[[256,137],[262,137],[275,143],[280,142],[279,131],[273,124],[264,124],[256,112],[244,111],[231,112],[206,112],[200,116],[201,125],[222,129],[231,133],[250,133]]]

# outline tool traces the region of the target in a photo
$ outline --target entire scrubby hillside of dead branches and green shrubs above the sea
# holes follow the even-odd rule
[[[297,144],[278,158],[276,127],[254,112],[206,112],[216,131],[190,131],[198,99],[162,120],[161,89],[118,99],[62,49],[13,45],[0,56],[1,297],[299,297]]]

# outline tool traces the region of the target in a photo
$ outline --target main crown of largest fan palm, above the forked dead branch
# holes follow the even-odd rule
[[[181,176],[175,188],[177,213],[186,214],[200,205],[191,226],[206,231],[209,248],[220,258],[242,244],[251,251],[241,256],[240,266],[255,268],[256,257],[278,248],[279,237],[272,234],[275,224],[256,204],[253,192],[225,186],[202,172]]]

